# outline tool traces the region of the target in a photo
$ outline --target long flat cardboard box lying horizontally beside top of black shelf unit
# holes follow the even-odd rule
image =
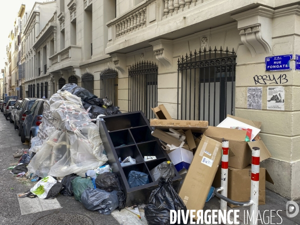
[[[155,128],[190,129],[192,132],[203,133],[208,128],[208,121],[176,120],[176,119],[150,119],[150,126]]]

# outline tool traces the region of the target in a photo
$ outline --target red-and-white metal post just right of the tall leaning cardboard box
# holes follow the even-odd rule
[[[221,194],[227,197],[227,184],[228,184],[228,149],[229,149],[229,141],[222,140],[222,165],[221,165]],[[221,210],[227,209],[227,202],[221,199]]]

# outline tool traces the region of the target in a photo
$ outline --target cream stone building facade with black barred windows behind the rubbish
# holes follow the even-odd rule
[[[36,4],[49,4],[51,10],[32,9],[25,26],[27,96],[28,85],[34,84],[37,93],[39,84],[40,93],[40,84],[46,83],[50,96],[75,82],[97,96],[116,99],[122,112],[142,110],[148,118],[154,117],[150,107],[163,103],[173,118],[204,119],[209,125],[226,114],[262,121],[260,136],[272,157],[261,164],[275,182],[267,187],[300,198],[296,0]],[[33,26],[37,21],[39,26]],[[265,71],[265,57],[282,54],[293,55],[292,69]],[[267,109],[269,86],[284,87],[284,110]],[[247,106],[248,87],[261,87],[261,109]]]

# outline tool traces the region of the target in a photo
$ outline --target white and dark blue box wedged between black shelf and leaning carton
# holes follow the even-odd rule
[[[178,173],[183,178],[186,175],[188,167],[192,161],[193,158],[192,152],[182,147],[178,147],[175,150],[169,152],[168,156],[173,162]]]

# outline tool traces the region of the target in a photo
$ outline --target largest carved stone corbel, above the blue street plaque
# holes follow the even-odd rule
[[[273,9],[259,6],[231,15],[237,20],[241,42],[250,50],[252,57],[271,52],[273,13]]]

